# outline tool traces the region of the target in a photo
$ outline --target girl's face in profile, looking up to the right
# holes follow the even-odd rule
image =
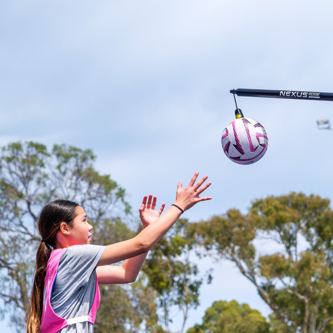
[[[82,207],[76,206],[75,212],[77,215],[70,228],[71,245],[90,244],[92,236],[90,231],[93,226],[87,222],[87,215]]]

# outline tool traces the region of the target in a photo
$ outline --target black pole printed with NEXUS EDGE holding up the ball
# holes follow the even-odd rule
[[[263,90],[263,89],[232,89],[231,94],[249,97],[287,98],[312,101],[333,101],[333,93],[322,93],[302,90]]]

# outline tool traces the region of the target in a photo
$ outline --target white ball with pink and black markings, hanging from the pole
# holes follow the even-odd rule
[[[225,155],[238,164],[252,164],[259,161],[268,147],[264,127],[251,118],[238,118],[223,131],[222,148]]]

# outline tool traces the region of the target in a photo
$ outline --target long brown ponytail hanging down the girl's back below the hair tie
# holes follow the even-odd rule
[[[31,291],[26,333],[39,333],[43,313],[44,280],[50,255],[50,246],[46,242],[41,242],[36,254],[36,271]]]

